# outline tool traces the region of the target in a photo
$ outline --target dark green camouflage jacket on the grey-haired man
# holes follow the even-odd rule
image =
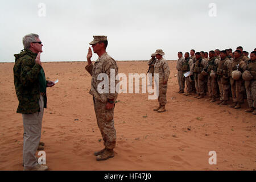
[[[42,69],[39,64],[35,63],[37,54],[25,49],[14,56],[14,85],[19,100],[16,112],[22,114],[36,113],[40,110],[38,73]]]

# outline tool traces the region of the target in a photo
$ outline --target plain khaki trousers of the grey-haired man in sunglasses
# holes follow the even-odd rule
[[[23,163],[24,169],[34,168],[38,161],[36,151],[41,138],[42,119],[44,114],[43,96],[39,100],[40,112],[34,114],[22,114],[23,118]]]

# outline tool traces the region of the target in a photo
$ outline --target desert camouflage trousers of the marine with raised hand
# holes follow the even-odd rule
[[[117,140],[114,127],[114,108],[106,109],[106,103],[93,98],[94,110],[97,118],[97,124],[104,140],[105,148],[112,150]]]

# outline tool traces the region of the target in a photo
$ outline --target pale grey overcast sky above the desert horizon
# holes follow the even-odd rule
[[[46,5],[46,16],[44,13]],[[210,3],[216,4],[216,16]],[[213,6],[212,6],[213,7]],[[9,0],[0,6],[0,61],[14,62],[22,37],[39,34],[42,61],[86,59],[93,35],[108,36],[115,60],[148,60],[156,49],[177,52],[256,48],[256,1],[208,0]],[[97,55],[93,55],[93,60]]]

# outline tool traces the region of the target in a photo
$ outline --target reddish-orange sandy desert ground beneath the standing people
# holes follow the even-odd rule
[[[115,157],[97,162],[103,143],[96,123],[86,63],[43,63],[49,88],[42,141],[49,170],[255,170],[256,116],[177,93],[176,62],[167,90],[167,111],[152,111],[148,94],[119,94],[114,121]],[[0,170],[22,170],[22,115],[13,83],[14,63],[0,63]],[[145,61],[118,61],[119,73],[146,73]],[[231,101],[229,101],[231,103]],[[217,152],[210,165],[209,151]]]

